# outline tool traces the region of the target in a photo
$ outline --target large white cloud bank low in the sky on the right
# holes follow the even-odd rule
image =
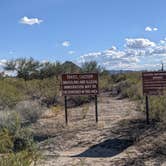
[[[122,50],[114,46],[108,50],[84,54],[78,62],[97,61],[101,66],[113,70],[157,70],[160,69],[161,61],[166,62],[166,42],[130,38],[125,40],[124,46]]]

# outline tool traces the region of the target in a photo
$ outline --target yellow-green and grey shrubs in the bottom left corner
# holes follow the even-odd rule
[[[30,130],[21,126],[17,113],[10,112],[0,124],[0,153],[3,166],[29,166],[40,156]]]

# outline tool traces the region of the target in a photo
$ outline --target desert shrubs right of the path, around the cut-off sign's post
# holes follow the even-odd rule
[[[124,76],[125,75],[125,76]],[[122,97],[128,97],[137,100],[138,110],[145,111],[145,100],[142,94],[141,73],[133,72],[112,77],[114,87]],[[166,122],[166,95],[150,96],[149,109],[152,119]]]

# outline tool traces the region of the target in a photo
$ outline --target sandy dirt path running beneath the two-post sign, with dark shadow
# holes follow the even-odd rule
[[[135,102],[103,95],[99,98],[98,108],[98,124],[95,123],[93,103],[69,109],[68,126],[64,125],[64,111],[57,116],[50,115],[49,118],[40,119],[34,126],[35,138],[39,141],[43,156],[38,165],[164,164],[165,156],[160,155],[154,160],[146,158],[141,152],[141,141],[146,137],[145,131],[151,132],[151,126],[147,126],[144,115],[136,111]]]

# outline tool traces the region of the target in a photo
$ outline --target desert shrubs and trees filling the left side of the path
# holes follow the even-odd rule
[[[35,164],[40,156],[31,124],[46,109],[63,105],[60,95],[62,73],[98,72],[107,81],[101,84],[102,89],[108,87],[109,79],[106,77],[110,77],[96,62],[86,62],[79,67],[72,62],[41,63],[33,58],[23,58],[8,61],[4,70],[13,73],[0,78],[0,165],[4,166]],[[91,96],[68,98],[69,107],[91,100]]]

